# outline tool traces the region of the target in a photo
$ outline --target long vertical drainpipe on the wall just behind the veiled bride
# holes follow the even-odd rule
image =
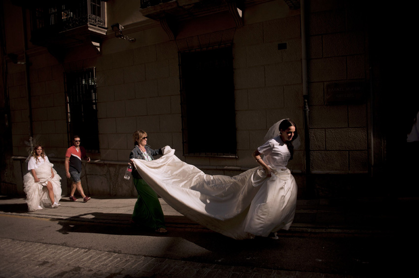
[[[307,33],[306,33],[306,5],[305,0],[300,0],[300,20],[301,20],[301,68],[303,76],[303,111],[304,111],[304,141],[305,141],[305,157],[306,157],[306,188],[309,196],[314,196],[314,187],[311,182],[311,166],[310,166],[310,129],[309,129],[309,89],[308,89],[308,72],[307,72]]]

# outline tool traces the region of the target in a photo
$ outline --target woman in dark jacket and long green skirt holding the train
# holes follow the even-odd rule
[[[154,160],[153,155],[162,154],[162,149],[153,150],[147,145],[147,138],[147,133],[143,130],[134,132],[135,147],[130,153],[130,159],[137,158],[151,161]],[[130,223],[153,229],[159,234],[167,233],[163,210],[156,192],[141,178],[135,167],[132,176],[138,198]]]

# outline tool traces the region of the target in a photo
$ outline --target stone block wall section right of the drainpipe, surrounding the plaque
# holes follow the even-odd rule
[[[354,7],[355,8],[355,7]],[[330,105],[330,83],[366,81],[366,32],[350,5],[309,16],[310,150],[313,173],[368,171],[367,102]]]

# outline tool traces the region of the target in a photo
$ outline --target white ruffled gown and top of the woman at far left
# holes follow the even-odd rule
[[[58,203],[61,199],[61,177],[53,168],[54,178],[51,178],[51,167],[54,164],[50,163],[46,156],[45,158],[45,161],[37,164],[37,168],[35,168],[36,176],[40,182],[35,183],[34,176],[31,172],[23,177],[23,190],[26,193],[26,203],[28,203],[29,212],[39,210],[39,206],[42,208],[51,206],[48,189],[46,188],[48,182],[52,184],[55,202]],[[31,159],[35,159],[35,157],[31,157]]]

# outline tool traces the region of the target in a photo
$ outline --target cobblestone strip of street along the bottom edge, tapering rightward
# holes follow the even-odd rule
[[[0,277],[334,277],[311,272],[196,263],[0,239]]]

